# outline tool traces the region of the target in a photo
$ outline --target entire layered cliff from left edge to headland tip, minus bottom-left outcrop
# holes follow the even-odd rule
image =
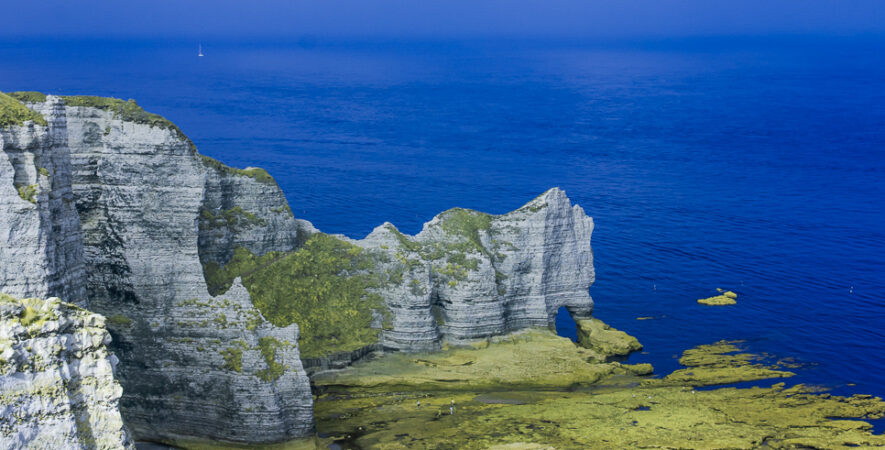
[[[47,125],[0,125],[0,291],[108,317],[137,438],[304,436],[305,366],[592,312],[593,221],[561,190],[356,241],[295,219],[265,171],[199,155],[133,101],[19,98]]]

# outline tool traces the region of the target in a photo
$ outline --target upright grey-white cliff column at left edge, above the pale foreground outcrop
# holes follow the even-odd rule
[[[34,106],[46,125],[0,127],[0,287],[83,305],[83,237],[64,105],[54,98]]]

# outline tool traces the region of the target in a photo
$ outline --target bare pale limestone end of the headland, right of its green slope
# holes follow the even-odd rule
[[[387,255],[401,283],[381,289],[393,313],[386,347],[429,350],[532,326],[565,306],[588,317],[594,281],[593,219],[551,189],[503,215],[446,211],[416,236],[387,223],[357,242]]]

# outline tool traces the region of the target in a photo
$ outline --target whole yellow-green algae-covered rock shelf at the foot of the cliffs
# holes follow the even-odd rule
[[[873,434],[869,423],[850,420],[883,417],[885,402],[879,398],[837,397],[783,383],[697,391],[680,377],[639,383],[640,378],[617,372],[583,388],[565,388],[562,381],[593,378],[587,377],[590,364],[577,362],[588,350],[536,333],[540,330],[511,343],[450,349],[432,359],[394,354],[319,374],[315,415],[318,432],[327,436],[322,444],[391,449],[885,446],[885,437]],[[522,345],[529,345],[525,352],[535,362],[519,356]],[[735,351],[733,342],[720,342],[687,350],[680,362],[740,368],[757,359]],[[399,359],[384,364],[391,357]],[[483,366],[494,365],[504,375],[485,373]],[[737,373],[735,381],[758,379]],[[490,381],[482,382],[485,377]],[[525,383],[544,379],[551,381],[545,387]]]

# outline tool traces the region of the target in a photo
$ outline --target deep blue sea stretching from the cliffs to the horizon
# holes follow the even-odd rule
[[[0,90],[136,98],[353,237],[560,186],[596,220],[596,313],[637,361],[746,339],[808,363],[793,381],[885,394],[885,41],[203,48],[0,42]],[[738,304],[696,303],[717,287]]]

